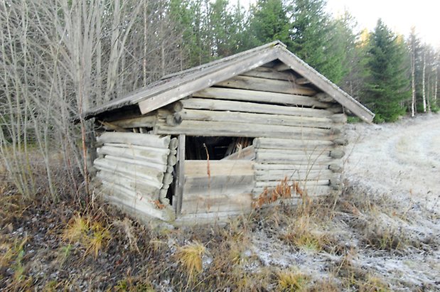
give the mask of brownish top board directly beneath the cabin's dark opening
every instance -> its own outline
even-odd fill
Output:
[[[208,177],[225,175],[253,175],[252,161],[220,160],[220,161],[185,161],[185,176]]]

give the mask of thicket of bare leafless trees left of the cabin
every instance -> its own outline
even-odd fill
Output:
[[[166,4],[1,1],[0,153],[20,193],[77,193],[79,173],[87,192],[91,128],[82,114],[179,67]]]

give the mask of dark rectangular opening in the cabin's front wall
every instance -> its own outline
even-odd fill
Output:
[[[186,136],[186,160],[222,160],[233,153],[252,147],[252,138]],[[252,159],[250,157],[243,159]],[[240,158],[235,158],[240,159]]]

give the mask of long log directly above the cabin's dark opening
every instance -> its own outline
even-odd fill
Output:
[[[186,134],[188,136],[239,136],[239,137],[275,137],[304,139],[334,139],[328,129],[306,128],[299,126],[277,126],[266,124],[228,123],[222,121],[183,121],[178,126],[157,124],[159,134]]]

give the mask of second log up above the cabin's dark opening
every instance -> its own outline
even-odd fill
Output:
[[[326,117],[295,117],[285,114],[254,114],[248,112],[223,112],[203,109],[184,109],[181,112],[181,117],[184,120],[193,121],[225,121],[321,129],[329,129],[332,126],[331,119]]]

